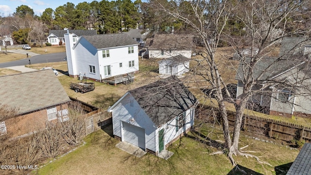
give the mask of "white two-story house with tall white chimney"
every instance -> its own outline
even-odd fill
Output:
[[[138,71],[138,42],[126,34],[81,36],[64,34],[69,76],[101,81]],[[120,83],[120,82],[118,82]]]

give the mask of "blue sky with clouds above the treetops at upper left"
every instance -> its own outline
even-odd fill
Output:
[[[35,15],[40,16],[47,8],[55,10],[57,7],[63,6],[67,2],[78,5],[78,3],[85,1],[92,2],[93,0],[0,0],[0,16],[7,17],[12,15],[16,12],[16,8],[21,5],[27,5],[34,10]]]

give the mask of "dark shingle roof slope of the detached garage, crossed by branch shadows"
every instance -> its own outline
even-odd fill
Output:
[[[197,102],[176,76],[129,91],[156,126],[174,119]]]

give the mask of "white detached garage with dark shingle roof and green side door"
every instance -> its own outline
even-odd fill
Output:
[[[112,112],[113,134],[158,155],[194,124],[197,100],[176,76],[126,92]]]

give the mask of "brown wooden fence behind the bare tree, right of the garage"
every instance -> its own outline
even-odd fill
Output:
[[[228,121],[230,126],[235,123],[235,111],[227,110]],[[217,120],[221,123],[220,115],[217,107],[208,105],[198,105],[196,116],[200,119],[212,122]],[[267,136],[269,138],[291,141],[305,140],[311,142],[311,128],[293,123],[280,122],[263,117],[243,115],[242,129],[251,133]]]

